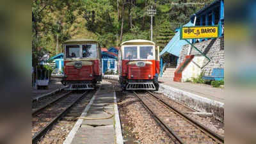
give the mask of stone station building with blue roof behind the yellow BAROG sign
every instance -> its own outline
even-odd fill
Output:
[[[169,76],[174,81],[187,81],[192,77],[204,74],[212,76],[212,71],[224,68],[224,0],[216,0],[191,15],[184,26],[218,26],[218,38],[201,38],[190,40],[200,52],[196,51],[188,42],[180,40],[180,29],[176,29],[175,36],[160,52],[160,76]],[[170,56],[164,61],[163,56]],[[207,60],[207,58],[210,59]],[[168,65],[166,64],[168,63]],[[170,63],[172,65],[170,65]],[[174,66],[174,67],[173,67]],[[172,68],[172,70],[170,70]]]

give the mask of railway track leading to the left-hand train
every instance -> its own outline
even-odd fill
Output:
[[[62,116],[64,116],[79,100],[83,93],[68,92],[57,99],[37,108],[32,113],[32,143],[36,143]]]

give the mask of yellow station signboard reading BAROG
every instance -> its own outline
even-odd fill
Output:
[[[218,26],[189,26],[180,28],[180,39],[217,38]]]

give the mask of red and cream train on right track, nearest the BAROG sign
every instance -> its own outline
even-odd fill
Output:
[[[158,90],[159,47],[148,40],[123,42],[118,52],[119,83],[124,90]]]

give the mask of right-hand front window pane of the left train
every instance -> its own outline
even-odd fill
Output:
[[[82,47],[83,47],[83,58],[97,58],[96,44],[82,45]]]

